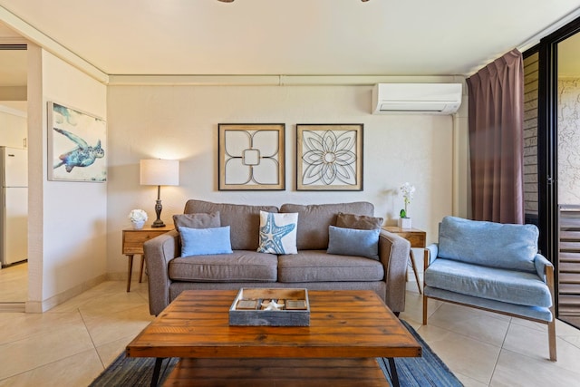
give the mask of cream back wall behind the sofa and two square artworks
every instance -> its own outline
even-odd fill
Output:
[[[179,187],[161,189],[165,223],[188,198],[199,198],[273,205],[368,200],[376,216],[395,224],[402,207],[396,190],[409,181],[417,189],[413,226],[435,240],[440,219],[465,206],[463,198],[454,204],[453,175],[466,169],[452,163],[466,160],[467,125],[456,125],[454,138],[452,116],[372,115],[371,93],[371,86],[109,86],[108,272],[126,277],[121,230],[130,227],[129,211],[143,208],[155,218],[156,188],[139,185],[139,160],[150,158],[181,160]],[[273,122],[285,123],[286,190],[218,191],[218,123]],[[295,191],[296,123],[364,124],[362,192]],[[463,148],[454,152],[454,141]],[[456,184],[465,195],[466,181]]]

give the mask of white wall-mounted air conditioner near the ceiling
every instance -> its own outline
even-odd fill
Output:
[[[461,105],[461,83],[378,83],[372,114],[451,114]]]

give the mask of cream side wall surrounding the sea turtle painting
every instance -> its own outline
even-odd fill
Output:
[[[107,184],[48,181],[47,102],[106,120],[106,86],[29,44],[29,301],[41,312],[106,273]],[[73,144],[72,144],[73,146]]]

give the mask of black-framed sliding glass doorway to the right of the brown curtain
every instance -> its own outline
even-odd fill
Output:
[[[556,267],[556,316],[580,327],[580,19],[524,53],[526,118],[536,120],[540,252]],[[531,80],[530,80],[531,81]],[[536,86],[536,91],[533,91]],[[535,101],[528,101],[528,92]]]

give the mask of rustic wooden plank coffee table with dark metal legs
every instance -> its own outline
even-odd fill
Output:
[[[398,385],[392,358],[421,355],[420,343],[372,291],[309,290],[310,326],[302,327],[230,326],[236,295],[182,292],[129,343],[127,356],[157,358],[151,385],[162,360],[179,357],[170,385],[360,386],[389,385],[375,358],[389,359]]]

